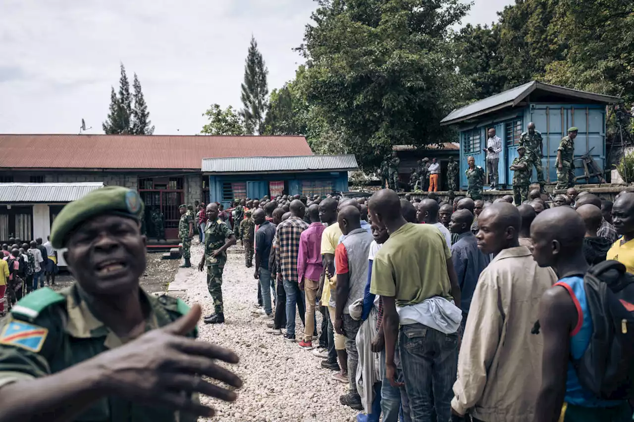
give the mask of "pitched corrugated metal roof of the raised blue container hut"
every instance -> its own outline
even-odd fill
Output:
[[[618,97],[613,97],[603,94],[588,93],[586,91],[579,91],[578,89],[571,89],[567,87],[545,84],[543,82],[537,82],[533,80],[527,82],[524,85],[508,89],[500,94],[495,94],[490,97],[475,101],[470,105],[462,108],[456,108],[453,112],[443,120],[441,125],[448,125],[453,123],[462,122],[470,117],[476,117],[478,115],[494,112],[508,106],[516,106],[517,103],[526,98],[526,96],[535,90],[545,91],[548,93],[560,94],[562,96],[569,96],[574,98],[588,99],[591,101],[598,101],[600,103],[615,103],[619,100]]]

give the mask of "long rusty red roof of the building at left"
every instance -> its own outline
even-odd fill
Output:
[[[191,169],[203,158],[312,155],[303,136],[0,134],[0,167]]]

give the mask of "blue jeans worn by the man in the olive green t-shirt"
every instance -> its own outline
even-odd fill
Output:
[[[458,333],[444,334],[423,324],[401,326],[399,352],[414,421],[451,418],[458,369]]]

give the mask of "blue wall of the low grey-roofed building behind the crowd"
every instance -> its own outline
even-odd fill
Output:
[[[225,207],[230,201],[223,201],[223,183],[247,182],[247,196],[252,199],[269,195],[270,181],[288,181],[288,195],[300,195],[302,181],[332,181],[335,191],[348,190],[347,172],[311,172],[311,173],[279,173],[279,174],[247,174],[209,176],[209,202],[220,202]]]

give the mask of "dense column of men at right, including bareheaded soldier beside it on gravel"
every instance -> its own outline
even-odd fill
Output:
[[[237,234],[210,204],[222,228],[205,230],[200,271],[216,304],[205,322],[224,322],[224,251],[246,237],[254,317],[313,349],[348,384],[340,402],[358,421],[630,420],[627,400],[595,397],[573,359],[592,337],[585,272],[606,259],[634,272],[634,193],[527,197],[265,196],[243,203]]]

